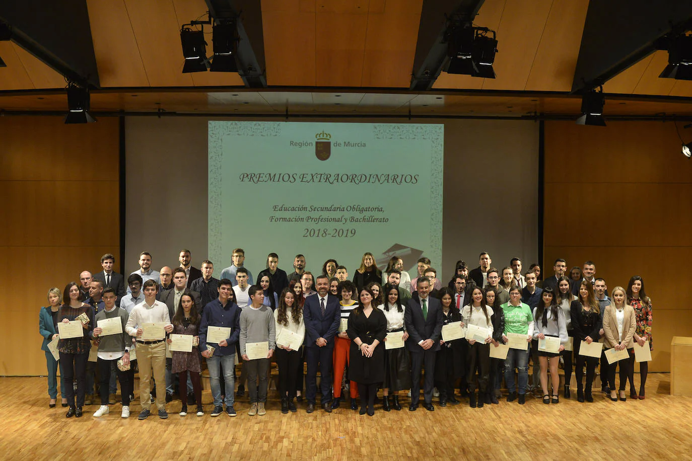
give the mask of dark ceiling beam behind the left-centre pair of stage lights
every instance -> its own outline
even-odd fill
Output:
[[[238,74],[248,88],[266,88],[262,5],[256,0],[205,0],[216,23],[237,19]]]

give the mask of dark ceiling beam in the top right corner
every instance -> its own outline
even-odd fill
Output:
[[[659,39],[689,29],[690,0],[591,1],[581,36],[572,93],[608,82],[661,49]],[[663,70],[663,69],[661,69]]]

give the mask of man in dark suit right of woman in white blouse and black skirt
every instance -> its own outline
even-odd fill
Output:
[[[408,331],[408,350],[411,353],[411,406],[409,411],[416,411],[420,399],[421,366],[426,368],[423,388],[425,408],[435,410],[432,406],[432,388],[435,386],[435,352],[439,350],[442,332],[442,305],[439,300],[428,296],[430,281],[419,277],[416,283],[417,299],[410,299],[406,304],[403,321]]]

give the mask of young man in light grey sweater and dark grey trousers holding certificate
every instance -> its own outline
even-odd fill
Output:
[[[266,403],[267,373],[269,360],[276,347],[274,312],[270,307],[263,305],[264,292],[260,285],[252,285],[248,294],[251,304],[240,313],[240,354],[247,364],[248,391],[250,393],[250,411],[248,415],[264,415]],[[267,343],[266,357],[251,360],[247,355],[246,346],[251,343]],[[260,386],[255,385],[257,376],[260,377]]]

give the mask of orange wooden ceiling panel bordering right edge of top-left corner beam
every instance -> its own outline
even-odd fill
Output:
[[[100,84],[149,86],[124,0],[86,0]]]

